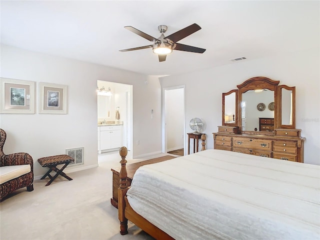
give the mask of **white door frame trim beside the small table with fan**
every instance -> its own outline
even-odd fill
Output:
[[[173,90],[177,88],[183,88],[183,148],[184,148],[184,155],[186,153],[186,143],[185,143],[185,85],[177,85],[177,86],[169,86],[169,87],[162,87],[161,95],[162,95],[162,107],[161,107],[161,152],[167,152],[167,132],[166,132],[166,123],[165,123],[165,92],[167,90]]]

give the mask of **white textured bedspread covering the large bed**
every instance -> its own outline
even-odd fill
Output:
[[[209,149],[139,167],[127,196],[175,239],[315,240],[319,185],[318,165]]]

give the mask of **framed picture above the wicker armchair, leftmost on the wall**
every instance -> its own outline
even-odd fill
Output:
[[[34,113],[34,81],[0,78],[0,113]]]

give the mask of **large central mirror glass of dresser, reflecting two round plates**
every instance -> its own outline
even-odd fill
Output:
[[[273,131],[274,91],[248,90],[242,93],[242,131]]]

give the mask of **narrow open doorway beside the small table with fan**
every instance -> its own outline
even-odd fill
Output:
[[[184,85],[162,91],[162,152],[184,155],[185,150]]]

